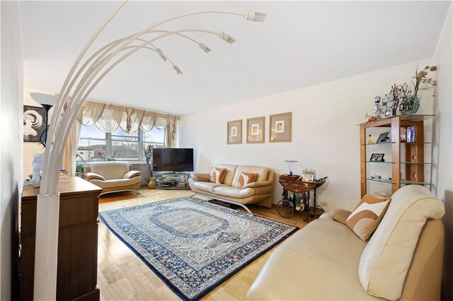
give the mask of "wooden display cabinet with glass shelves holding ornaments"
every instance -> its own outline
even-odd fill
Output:
[[[425,141],[425,120],[431,119],[434,115],[398,115],[379,119],[374,122],[360,124],[360,191],[362,196],[369,194],[367,191],[369,181],[381,182],[391,185],[391,194],[394,194],[401,186],[407,184],[430,185],[431,181],[425,179],[425,166],[430,162],[425,162],[425,148],[430,147],[431,143]],[[401,141],[401,129],[406,131],[408,126],[415,128],[415,140],[411,143]],[[387,128],[389,131],[388,143],[368,143],[367,129]],[[391,158],[385,162],[373,162],[369,158],[369,146],[377,145],[382,148],[391,148]],[[370,164],[385,163],[389,166],[391,179],[382,177],[374,179],[369,175]]]

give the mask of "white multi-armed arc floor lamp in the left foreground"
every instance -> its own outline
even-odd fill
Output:
[[[36,217],[36,247],[35,247],[35,300],[55,300],[57,288],[57,248],[58,248],[58,217],[59,217],[59,193],[58,193],[58,175],[62,164],[62,155],[64,146],[66,146],[67,136],[74,124],[77,115],[81,111],[86,98],[98,83],[112,70],[117,64],[134,54],[140,49],[150,49],[164,59],[169,61],[176,73],[182,73],[173,61],[168,59],[166,54],[153,45],[153,42],[176,35],[184,39],[195,42],[204,52],[211,51],[204,43],[194,40],[188,34],[190,33],[207,33],[218,35],[222,40],[230,44],[236,40],[224,32],[215,33],[203,29],[183,29],[183,30],[161,30],[160,25],[168,23],[178,18],[193,16],[207,13],[221,13],[236,16],[243,16],[246,20],[263,22],[265,13],[236,13],[231,11],[196,11],[193,13],[184,13],[179,16],[161,20],[154,23],[133,35],[128,35],[122,39],[110,42],[101,49],[98,49],[91,57],[88,57],[84,63],[79,66],[84,59],[86,52],[96,40],[110,20],[118,11],[127,3],[122,2],[113,13],[101,24],[79,57],[77,57],[69,74],[64,81],[62,89],[59,92],[57,104],[52,114],[52,122],[47,134],[47,143],[45,148],[45,162],[42,170],[42,181],[40,194],[38,195],[38,208]],[[119,58],[118,58],[119,57]]]

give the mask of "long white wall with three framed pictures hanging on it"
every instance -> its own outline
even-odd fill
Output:
[[[328,210],[352,209],[360,201],[357,124],[365,121],[365,112],[372,112],[374,97],[388,93],[394,83],[410,81],[417,64],[403,64],[184,115],[179,127],[180,146],[195,148],[197,172],[209,172],[214,163],[235,163],[268,166],[278,175],[287,173],[285,160],[298,160],[297,173],[311,167],[317,178],[329,177],[319,189],[319,203],[328,203]],[[420,62],[420,66],[425,64],[430,61]],[[431,113],[430,93],[424,94],[421,102],[423,107],[418,113]],[[292,112],[292,142],[269,143],[269,115],[283,112]],[[246,144],[246,119],[260,116],[266,117],[266,141]],[[243,119],[243,144],[227,145],[226,122],[235,119]],[[281,192],[280,185],[275,184],[274,203],[281,199]]]

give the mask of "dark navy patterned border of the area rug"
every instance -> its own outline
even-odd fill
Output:
[[[184,196],[184,197],[181,197],[181,198],[175,198],[175,199],[184,199],[184,198],[190,198],[190,196]],[[165,200],[161,200],[161,201],[171,201],[173,199],[165,199]],[[200,199],[197,199],[198,201],[202,201]],[[159,203],[161,201],[156,201],[156,202],[153,202],[153,203]],[[121,210],[121,209],[126,209],[126,208],[134,208],[134,207],[139,207],[139,206],[144,206],[144,205],[147,205],[149,203],[141,203],[141,204],[137,204],[137,205],[134,205],[134,206],[129,206],[129,207],[124,207],[124,208],[117,208],[117,209],[113,209],[113,210],[108,210],[108,211],[102,211],[102,212],[99,212],[100,214],[98,215],[99,218],[102,220],[103,224],[110,230],[113,232],[113,234],[121,241],[123,242],[129,249],[131,249],[132,252],[134,252],[134,254],[137,255],[137,257],[139,259],[141,259],[144,264],[146,264],[150,269],[151,271],[153,271],[162,281],[164,281],[164,283],[166,283],[166,285],[168,285],[168,287],[173,290],[174,293],[176,293],[176,295],[178,295],[178,297],[180,297],[181,299],[183,300],[188,300],[188,301],[194,301],[194,300],[199,300],[201,297],[205,296],[207,293],[210,293],[211,290],[214,290],[214,288],[217,288],[220,284],[224,283],[226,280],[228,280],[229,278],[231,278],[231,276],[234,276],[236,273],[238,273],[239,271],[241,271],[244,267],[248,266],[248,264],[251,264],[251,262],[255,261],[256,259],[260,258],[260,256],[263,256],[263,254],[265,254],[266,252],[268,252],[270,249],[273,249],[273,247],[275,247],[277,244],[280,244],[280,242],[282,242],[283,240],[287,239],[289,236],[291,236],[292,234],[294,234],[294,232],[296,232],[297,230],[300,230],[299,227],[295,226],[295,225],[289,225],[287,223],[282,223],[280,221],[276,221],[276,220],[271,220],[270,218],[263,218],[262,216],[258,216],[259,218],[263,218],[265,220],[271,220],[275,223],[281,223],[283,225],[288,225],[288,226],[291,226],[291,227],[294,227],[293,230],[291,230],[290,232],[288,232],[285,236],[282,236],[280,237],[279,240],[277,240],[276,242],[274,242],[273,244],[270,244],[270,247],[268,247],[267,249],[263,250],[262,252],[259,252],[258,254],[256,254],[255,256],[253,256],[253,258],[249,259],[248,261],[246,261],[245,263],[243,263],[241,266],[238,266],[234,271],[232,271],[231,273],[229,273],[229,275],[225,276],[224,278],[220,279],[219,281],[217,281],[217,283],[215,283],[214,285],[211,285],[210,288],[206,288],[205,290],[203,290],[202,292],[198,293],[198,295],[195,295],[193,298],[188,298],[181,290],[179,290],[176,285],[173,285],[173,283],[171,283],[171,281],[169,281],[164,275],[162,275],[159,270],[157,270],[156,268],[154,268],[154,266],[152,266],[148,261],[147,259],[144,258],[144,256],[142,256],[142,254],[139,254],[139,252],[137,252],[137,250],[132,247],[127,241],[125,241],[115,230],[113,230],[112,227],[110,227],[110,225],[105,221],[105,219],[103,218],[103,216],[101,216],[102,213],[108,213],[110,211],[117,211],[117,210]],[[236,209],[231,209],[231,208],[227,208],[227,207],[224,207],[224,206],[221,206],[219,204],[216,204],[216,203],[210,203],[210,205],[213,205],[213,206],[219,206],[220,208],[224,208],[224,209],[227,209],[227,210],[231,210],[231,211],[236,211]],[[242,212],[242,211],[241,211]],[[247,213],[245,213],[247,214]]]

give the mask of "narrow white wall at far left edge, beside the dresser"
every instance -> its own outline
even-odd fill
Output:
[[[10,300],[12,257],[17,256],[17,249],[13,248],[18,231],[15,212],[22,192],[23,57],[18,4],[1,1],[0,7],[0,300]]]

